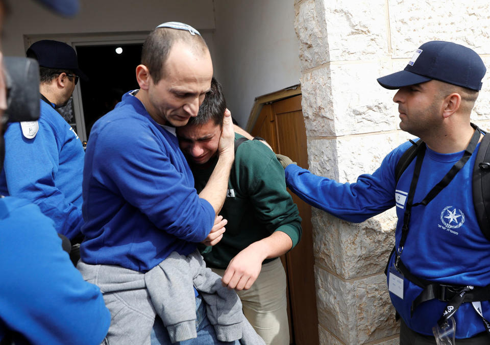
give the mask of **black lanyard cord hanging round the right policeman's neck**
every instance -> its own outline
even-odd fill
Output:
[[[426,206],[435,196],[443,190],[456,176],[459,170],[464,166],[464,164],[470,159],[473,151],[475,151],[476,146],[478,145],[478,141],[480,140],[480,129],[472,124],[472,127],[475,128],[475,133],[471,137],[470,143],[467,148],[464,150],[463,156],[457,161],[448,173],[443,177],[442,180],[439,181],[425,196],[425,198],[420,203],[413,204],[413,196],[415,194],[415,188],[417,187],[417,182],[419,181],[420,171],[422,169],[422,161],[424,160],[424,155],[426,151],[425,142],[421,144],[419,152],[417,154],[417,160],[415,161],[415,169],[413,171],[412,181],[410,183],[410,189],[407,195],[407,203],[405,206],[405,213],[403,216],[403,227],[402,227],[402,238],[400,239],[400,244],[398,245],[397,256],[396,256],[396,264],[398,266],[398,262],[400,260],[400,255],[403,252],[403,247],[405,245],[405,241],[408,235],[408,223],[410,221],[411,209],[413,206],[424,205]]]

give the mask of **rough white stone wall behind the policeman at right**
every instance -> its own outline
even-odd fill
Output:
[[[310,170],[355,182],[411,136],[399,130],[393,90],[376,78],[405,67],[429,40],[473,48],[489,72],[472,114],[490,129],[490,3],[487,0],[296,0],[303,113]],[[352,224],[314,209],[321,344],[398,344],[384,276],[396,215]]]

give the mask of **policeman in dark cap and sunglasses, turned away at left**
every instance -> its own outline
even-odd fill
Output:
[[[39,62],[40,117],[11,124],[0,174],[0,193],[28,199],[53,219],[59,234],[81,237],[84,150],[77,133],[56,111],[67,104],[84,77],[75,50],[66,43],[41,40],[27,56]]]

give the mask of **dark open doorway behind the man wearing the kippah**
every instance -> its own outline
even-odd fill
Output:
[[[111,111],[121,96],[138,88],[135,78],[143,44],[78,46],[80,69],[88,81],[80,81],[87,139],[94,122]],[[116,48],[122,52],[116,53]]]

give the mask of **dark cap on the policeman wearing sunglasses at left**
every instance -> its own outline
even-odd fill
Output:
[[[78,68],[77,53],[74,48],[64,42],[43,39],[31,44],[26,54],[35,57],[39,66],[69,69],[81,79],[88,79],[85,73]]]

